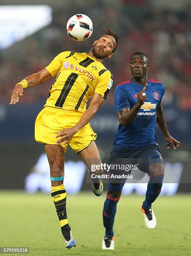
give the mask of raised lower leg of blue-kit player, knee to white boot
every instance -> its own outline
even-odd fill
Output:
[[[152,203],[159,196],[163,185],[164,165],[161,163],[153,163],[149,165],[148,175],[150,180],[147,186],[145,201],[141,206],[144,215],[145,225],[152,229],[156,227],[156,218],[153,212]]]

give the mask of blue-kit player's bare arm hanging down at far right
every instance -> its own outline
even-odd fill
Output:
[[[164,134],[164,138],[167,142],[166,143],[167,149],[173,148],[175,150],[177,147],[179,147],[181,143],[177,141],[175,138],[173,138],[168,131],[166,121],[165,121],[164,110],[161,102],[158,104],[158,108],[157,108],[157,123]]]

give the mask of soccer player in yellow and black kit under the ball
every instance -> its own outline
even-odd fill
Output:
[[[32,74],[15,85],[10,105],[23,95],[23,88],[33,87],[56,76],[51,86],[45,108],[36,118],[35,139],[45,144],[50,165],[51,196],[60,220],[66,248],[76,246],[66,214],[64,188],[64,154],[67,145],[80,154],[89,170],[92,164],[101,164],[95,144],[97,134],[89,121],[99,110],[112,87],[112,75],[102,61],[111,58],[118,44],[118,36],[102,27],[104,34],[93,43],[88,53],[64,51],[40,72]],[[92,97],[89,108],[86,103]],[[77,171],[77,170],[76,170]],[[100,171],[96,174],[101,174]],[[101,179],[92,183],[94,194],[103,191]]]

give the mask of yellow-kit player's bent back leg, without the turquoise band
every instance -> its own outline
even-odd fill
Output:
[[[97,149],[95,141],[92,141],[87,148],[84,148],[79,152],[81,158],[84,163],[87,165],[89,169],[89,175],[92,179],[92,189],[96,196],[102,195],[103,192],[103,183],[99,178],[92,178],[92,174],[101,175],[104,173],[103,169],[96,169],[96,165],[101,166],[102,160],[99,155],[99,151]],[[92,166],[94,167],[94,171],[92,171]]]

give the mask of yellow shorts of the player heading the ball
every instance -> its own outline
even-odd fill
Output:
[[[40,143],[56,144],[58,133],[64,128],[71,128],[79,122],[82,113],[77,110],[63,110],[58,108],[45,107],[38,114],[35,122],[35,140]],[[94,133],[88,123],[82,127],[69,140],[68,144],[76,152],[87,148],[91,141],[96,140],[97,134]],[[61,145],[60,145],[61,146]],[[61,146],[66,152],[67,144]]]

